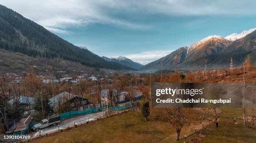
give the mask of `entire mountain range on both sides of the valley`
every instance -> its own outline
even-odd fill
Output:
[[[176,51],[145,66],[120,56],[99,57],[87,47],[77,47],[54,35],[41,25],[17,12],[0,5],[0,70],[24,70],[29,65],[41,67],[94,67],[118,70],[196,70],[227,68],[230,59],[239,67],[246,57],[256,61],[256,28],[233,33],[227,37],[206,37],[190,46]],[[6,59],[4,59],[6,58]],[[74,66],[75,65],[75,66]],[[5,70],[6,71],[6,70]]]

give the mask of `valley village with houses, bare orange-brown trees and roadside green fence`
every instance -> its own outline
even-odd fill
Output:
[[[245,65],[245,70],[249,77],[255,74],[255,67],[250,64]],[[140,112],[140,101],[151,101],[151,85],[155,82],[242,81],[236,75],[242,74],[243,68],[233,68],[231,62],[229,69],[205,68],[187,73],[80,72],[41,74],[34,73],[31,67],[20,74],[4,74],[0,79],[4,109],[0,131],[42,136],[127,110]],[[246,80],[255,82],[255,78]]]

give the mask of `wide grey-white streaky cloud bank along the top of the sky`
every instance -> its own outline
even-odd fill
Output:
[[[1,4],[38,22],[49,30],[93,23],[115,25],[133,30],[148,30],[152,26],[131,17],[139,14],[165,15],[250,15],[255,14],[255,1],[243,0],[1,0]],[[124,20],[125,19],[125,20]],[[60,32],[60,31],[59,31]]]

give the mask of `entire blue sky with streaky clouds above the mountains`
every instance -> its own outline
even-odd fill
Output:
[[[0,0],[77,46],[147,64],[210,35],[256,27],[255,0]]]

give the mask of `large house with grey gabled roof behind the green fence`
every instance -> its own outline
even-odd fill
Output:
[[[82,95],[69,94],[67,92],[62,92],[49,100],[51,106],[55,108],[55,111],[60,111],[64,106],[69,106],[72,110],[85,110],[90,108],[89,99],[84,98]]]

